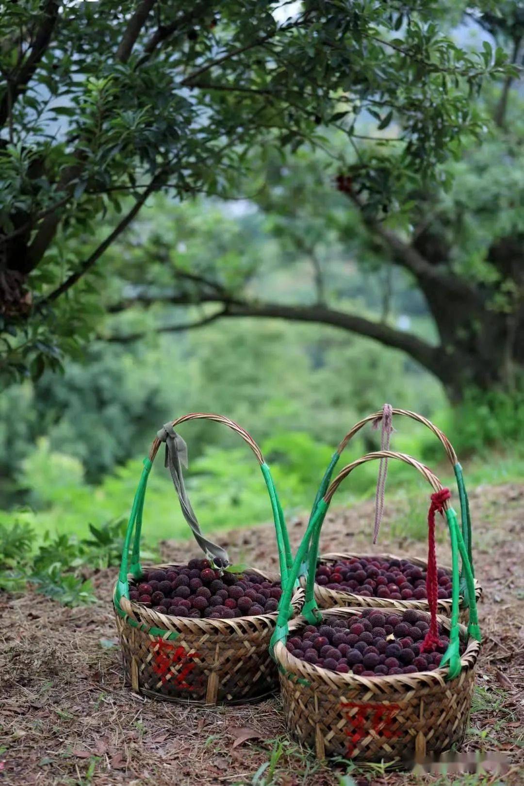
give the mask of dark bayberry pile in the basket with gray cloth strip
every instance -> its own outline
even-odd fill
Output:
[[[130,585],[130,600],[175,617],[233,619],[277,611],[278,582],[258,573],[230,573],[208,560],[189,560],[183,567],[152,568]]]

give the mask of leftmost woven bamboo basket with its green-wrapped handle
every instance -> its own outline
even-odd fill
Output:
[[[285,578],[291,566],[288,533],[269,467],[258,445],[238,424],[218,415],[191,413],[173,421],[173,426],[196,418],[207,418],[229,426],[255,454],[269,491],[280,571]],[[261,700],[278,689],[277,667],[269,656],[269,640],[275,630],[277,612],[235,619],[192,619],[160,614],[129,600],[130,579],[140,578],[143,573],[140,564],[142,509],[148,473],[160,444],[159,439],[154,440],[144,462],[145,469],[135,494],[119,580],[113,595],[126,683],[135,692],[168,701],[216,704]],[[134,548],[128,573],[133,531]],[[250,571],[270,581],[279,578],[255,568],[247,568],[244,572]],[[299,611],[302,600],[303,592],[299,589],[289,602],[290,614]]]

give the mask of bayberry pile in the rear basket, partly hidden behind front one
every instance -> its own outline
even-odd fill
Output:
[[[315,581],[327,589],[393,601],[422,601],[427,598],[426,568],[409,560],[384,556],[353,557],[319,564]],[[438,568],[438,597],[451,597],[451,575]]]

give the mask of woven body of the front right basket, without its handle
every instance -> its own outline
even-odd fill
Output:
[[[330,616],[357,615],[361,608],[334,608]],[[439,617],[449,630],[451,621]],[[290,635],[305,626],[299,617]],[[460,674],[446,681],[446,670],[394,677],[357,677],[306,663],[280,641],[275,656],[288,729],[313,748],[318,758],[342,756],[361,762],[401,762],[460,747],[475,687],[480,645],[467,638]]]

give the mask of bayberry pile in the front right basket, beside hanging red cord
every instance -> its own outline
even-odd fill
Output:
[[[420,652],[428,627],[428,617],[422,612],[410,609],[400,615],[366,608],[358,616],[330,617],[318,627],[307,625],[288,639],[286,647],[295,658],[340,674],[415,674],[438,668],[449,645],[438,626],[438,648]]]

